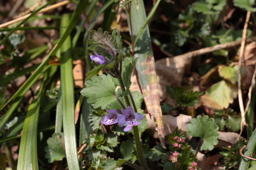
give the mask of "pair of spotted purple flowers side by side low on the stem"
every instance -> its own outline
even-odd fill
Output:
[[[105,125],[118,123],[119,127],[123,127],[125,123],[125,132],[131,130],[132,126],[137,126],[140,124],[137,119],[142,120],[144,118],[144,116],[140,113],[133,113],[133,109],[131,106],[126,107],[125,110],[121,110],[122,114],[120,114],[119,111],[117,111],[116,109],[110,109],[107,111],[109,112],[109,114],[103,116],[101,123]]]

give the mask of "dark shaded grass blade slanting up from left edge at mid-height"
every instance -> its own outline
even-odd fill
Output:
[[[10,83],[10,81],[14,80],[15,78],[18,78],[20,76],[23,76],[25,74],[29,74],[31,71],[36,70],[36,68],[39,66],[39,64],[32,65],[31,67],[28,67],[26,69],[22,70],[14,70],[12,73],[0,78],[0,86]]]

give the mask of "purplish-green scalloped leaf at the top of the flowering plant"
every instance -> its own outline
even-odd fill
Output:
[[[108,31],[103,32],[102,28],[98,29],[98,32],[92,30],[90,32],[91,39],[87,40],[87,43],[91,46],[89,50],[93,50],[104,57],[108,57],[111,61],[116,60],[117,55],[119,55],[117,42],[113,35],[109,35]]]

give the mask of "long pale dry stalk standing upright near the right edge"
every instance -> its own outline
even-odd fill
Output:
[[[240,134],[238,137],[241,136],[243,125],[246,124],[245,121],[245,112],[244,112],[244,103],[243,103],[243,95],[241,90],[241,71],[242,71],[242,58],[244,57],[244,47],[245,47],[245,40],[246,40],[246,34],[247,34],[247,26],[248,22],[251,16],[251,11],[247,11],[245,23],[244,23],[244,30],[242,35],[242,42],[241,42],[241,48],[240,48],[240,55],[239,55],[239,72],[238,72],[238,101],[239,101],[239,107],[241,112],[241,124],[240,124]]]

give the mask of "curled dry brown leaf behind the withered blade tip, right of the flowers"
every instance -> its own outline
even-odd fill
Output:
[[[146,119],[148,120],[148,128],[147,132],[148,134],[152,135],[154,138],[158,138],[159,135],[156,131],[156,124],[154,123],[154,120],[150,119],[149,114],[146,114]],[[169,136],[172,131],[178,126],[179,129],[181,129],[186,137],[186,141],[190,141],[192,136],[187,135],[186,129],[187,124],[192,119],[191,116],[180,114],[179,116],[172,116],[172,115],[163,115],[163,121],[164,121],[164,136]]]

